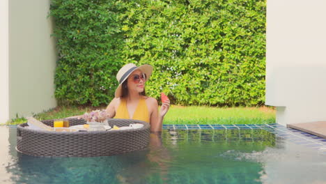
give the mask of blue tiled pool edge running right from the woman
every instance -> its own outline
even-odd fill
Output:
[[[266,130],[281,139],[313,148],[326,155],[326,139],[307,132],[286,128],[278,123],[246,125],[163,125],[164,130]]]

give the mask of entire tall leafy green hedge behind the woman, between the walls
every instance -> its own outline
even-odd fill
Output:
[[[118,68],[149,63],[146,87],[180,105],[263,105],[265,1],[52,1],[56,98],[113,98]]]

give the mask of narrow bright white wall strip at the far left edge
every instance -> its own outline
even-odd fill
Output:
[[[0,1],[0,123],[9,118],[8,0]]]

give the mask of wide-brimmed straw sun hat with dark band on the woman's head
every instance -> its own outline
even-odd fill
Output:
[[[134,72],[134,70],[141,70],[141,72],[146,74],[146,81],[149,79],[150,75],[152,75],[153,72],[153,66],[150,66],[148,64],[142,65],[142,66],[136,66],[134,63],[128,63],[125,66],[123,66],[118,73],[116,74],[116,79],[119,82],[119,86],[116,89],[116,93],[114,96],[116,98],[121,97],[122,95],[122,84],[125,82],[125,80],[129,77],[129,75]]]

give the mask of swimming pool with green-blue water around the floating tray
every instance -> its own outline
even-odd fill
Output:
[[[164,125],[143,151],[97,158],[17,153],[0,126],[0,183],[325,183],[326,140],[282,125]]]

